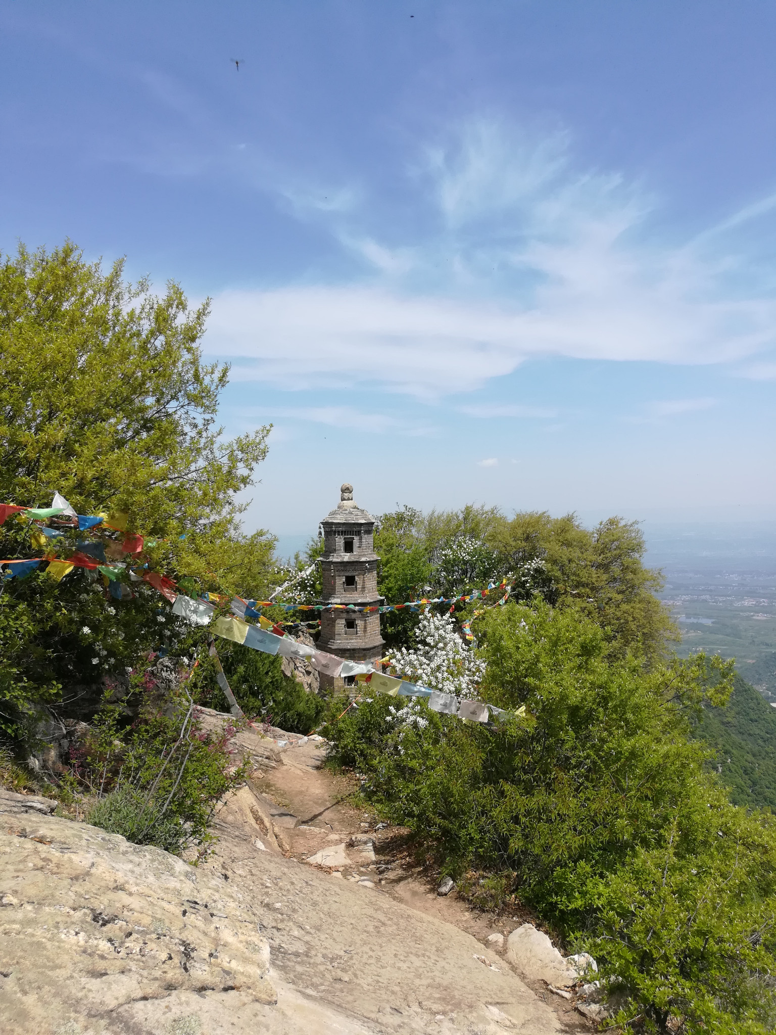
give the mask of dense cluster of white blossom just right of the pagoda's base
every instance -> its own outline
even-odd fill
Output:
[[[458,698],[476,697],[485,662],[474,655],[455,630],[451,615],[425,611],[416,633],[415,650],[391,655],[391,667],[402,678]]]

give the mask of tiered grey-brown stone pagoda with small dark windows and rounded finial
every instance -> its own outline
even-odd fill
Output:
[[[372,533],[375,519],[353,501],[353,485],[347,482],[339,504],[321,522],[324,554],[321,558],[323,603],[352,603],[371,608],[383,603],[378,596],[378,561]],[[347,661],[377,661],[385,641],[380,634],[380,614],[361,611],[322,611],[318,647]],[[340,690],[353,686],[354,677],[321,673],[321,689]]]

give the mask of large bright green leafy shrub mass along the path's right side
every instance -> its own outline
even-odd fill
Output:
[[[732,667],[613,658],[574,610],[510,604],[480,623],[490,731],[417,701],[332,723],[335,758],[452,874],[479,868],[594,952],[648,1030],[764,1031],[774,1009],[776,825],[726,798],[688,714]],[[711,672],[710,672],[711,669]],[[715,671],[716,670],[716,671]]]

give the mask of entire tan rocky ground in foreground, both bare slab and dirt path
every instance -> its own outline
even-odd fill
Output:
[[[198,867],[0,792],[0,1032],[592,1030],[584,964],[437,894],[400,832],[348,803],[320,738],[249,728],[235,744],[253,775]]]

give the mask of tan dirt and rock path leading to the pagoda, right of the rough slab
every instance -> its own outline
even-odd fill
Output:
[[[203,714],[206,727],[221,720]],[[322,768],[323,741],[269,732],[237,738],[255,773],[219,809],[205,866],[266,910],[280,987],[333,1011],[332,1031],[591,1031],[486,943],[518,920],[493,921],[454,891],[438,896],[402,852],[401,832],[355,809],[353,783]]]

